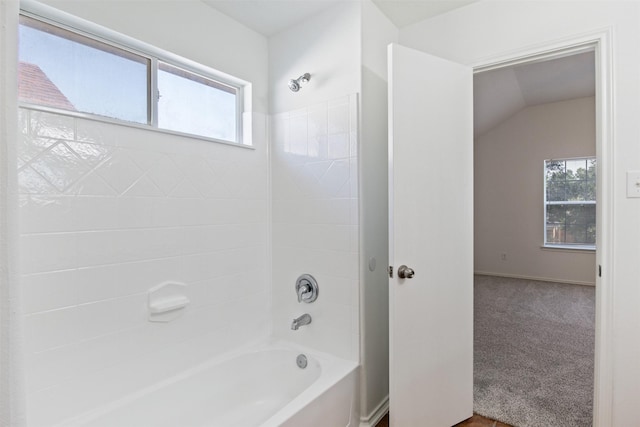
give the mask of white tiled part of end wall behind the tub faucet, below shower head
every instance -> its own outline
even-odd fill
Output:
[[[358,107],[345,96],[272,117],[273,329],[359,360]],[[298,303],[296,278],[313,275],[318,299]],[[311,325],[291,330],[303,313]]]

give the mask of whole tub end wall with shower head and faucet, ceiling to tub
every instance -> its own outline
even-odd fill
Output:
[[[275,337],[359,360],[360,10],[334,6],[269,40]],[[287,80],[308,72],[299,92]],[[298,303],[296,278],[320,294]],[[313,322],[291,330],[293,318]]]

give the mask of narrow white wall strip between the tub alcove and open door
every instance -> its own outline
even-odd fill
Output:
[[[389,395],[387,45],[397,42],[398,36],[398,29],[376,5],[362,3],[360,408],[365,426],[376,424]]]

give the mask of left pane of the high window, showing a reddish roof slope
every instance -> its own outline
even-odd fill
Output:
[[[149,122],[148,58],[26,16],[19,58],[22,102]]]

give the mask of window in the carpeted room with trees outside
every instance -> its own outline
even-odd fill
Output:
[[[596,159],[546,160],[545,247],[595,249]]]

